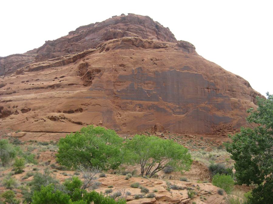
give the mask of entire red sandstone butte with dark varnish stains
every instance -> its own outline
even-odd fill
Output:
[[[232,60],[232,59],[231,59]],[[113,16],[0,57],[0,129],[54,140],[82,126],[227,138],[261,96],[148,16]],[[159,128],[160,129],[160,128]]]

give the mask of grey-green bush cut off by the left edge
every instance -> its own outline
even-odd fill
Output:
[[[9,143],[6,139],[0,140],[0,159],[5,167],[17,154],[18,148]]]

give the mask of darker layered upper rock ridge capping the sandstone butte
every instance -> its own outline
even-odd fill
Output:
[[[15,70],[33,62],[81,52],[95,48],[107,40],[121,37],[176,42],[174,34],[168,28],[164,28],[148,16],[134,14],[113,16],[103,22],[80,26],[75,31],[70,31],[69,35],[57,40],[45,41],[45,44],[38,49],[24,54],[0,57],[0,75],[10,75]]]

